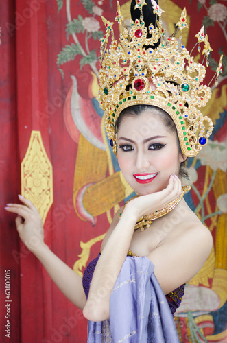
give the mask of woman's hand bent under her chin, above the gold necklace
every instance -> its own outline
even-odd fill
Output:
[[[164,209],[169,202],[176,199],[182,193],[181,182],[178,176],[170,176],[169,183],[163,191],[159,191],[146,196],[139,196],[126,204],[124,213],[134,213],[136,219],[142,215],[149,215],[158,210]]]

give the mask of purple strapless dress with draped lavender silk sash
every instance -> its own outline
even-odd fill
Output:
[[[88,264],[83,287],[88,297],[100,254]],[[178,343],[173,320],[184,285],[167,296],[147,257],[126,257],[110,296],[110,318],[88,322],[87,343]]]

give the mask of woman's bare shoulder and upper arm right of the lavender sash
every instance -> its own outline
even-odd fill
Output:
[[[154,274],[165,294],[190,281],[211,252],[210,231],[199,220],[191,218],[178,224],[147,256],[154,263]]]

